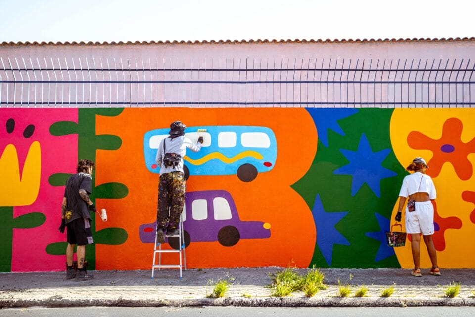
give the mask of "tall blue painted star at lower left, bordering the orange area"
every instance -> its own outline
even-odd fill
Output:
[[[323,208],[320,195],[315,197],[315,203],[312,208],[313,221],[317,229],[317,245],[322,251],[325,261],[330,266],[332,263],[333,245],[350,245],[350,242],[335,229],[335,225],[348,214],[345,212],[326,212]]]

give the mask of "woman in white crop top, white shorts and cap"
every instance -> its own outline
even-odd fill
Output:
[[[399,192],[399,207],[395,217],[396,221],[401,221],[402,209],[409,198],[405,212],[405,224],[406,232],[411,235],[412,257],[414,260],[414,269],[411,274],[414,276],[422,276],[420,267],[421,233],[432,262],[429,273],[440,275],[435,245],[432,240],[434,234],[434,207],[431,201],[435,200],[437,195],[432,178],[426,175],[427,168],[426,161],[421,157],[413,159],[412,163],[406,168],[407,171],[414,171],[414,173],[407,175],[402,181]]]

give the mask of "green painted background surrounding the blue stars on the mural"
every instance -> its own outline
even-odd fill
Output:
[[[350,245],[333,245],[331,267],[400,267],[395,255],[375,262],[381,242],[365,235],[367,232],[381,231],[375,212],[390,218],[402,179],[407,175],[392,151],[389,134],[392,111],[360,109],[358,113],[339,120],[345,135],[328,131],[328,148],[318,142],[317,153],[310,169],[291,186],[304,198],[310,211],[315,196],[319,194],[326,212],[348,212],[335,225],[335,229]],[[340,149],[356,151],[363,133],[373,152],[391,149],[381,166],[394,171],[397,176],[380,180],[380,197],[377,197],[366,183],[352,196],[352,176],[333,174],[336,169],[349,163]],[[318,245],[315,245],[309,267],[313,265],[329,267]]]

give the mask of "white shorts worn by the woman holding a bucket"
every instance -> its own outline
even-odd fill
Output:
[[[416,202],[416,210],[409,212],[406,207],[406,232],[434,234],[434,206],[431,201]]]

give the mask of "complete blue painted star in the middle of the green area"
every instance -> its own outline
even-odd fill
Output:
[[[351,195],[355,196],[361,186],[366,183],[377,197],[380,197],[380,180],[397,176],[395,172],[381,166],[391,149],[373,152],[365,134],[361,135],[357,151],[340,149],[341,153],[350,161],[348,165],[338,168],[336,175],[351,175]]]

